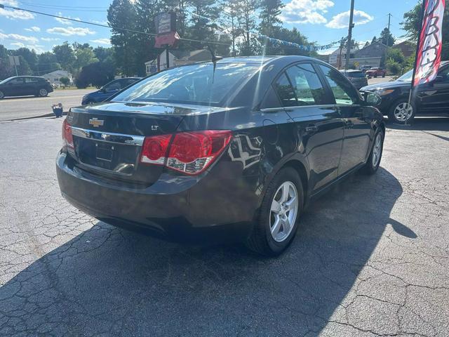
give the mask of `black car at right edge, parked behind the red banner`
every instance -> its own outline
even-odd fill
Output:
[[[408,104],[413,70],[406,72],[396,81],[373,84],[361,88],[362,93],[377,93],[382,97],[379,109],[391,121],[405,124],[416,114],[449,113],[449,61],[441,62],[434,81],[415,88],[415,95]]]

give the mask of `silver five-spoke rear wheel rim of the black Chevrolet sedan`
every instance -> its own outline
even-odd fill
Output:
[[[298,209],[298,195],[294,183],[286,181],[274,194],[269,215],[269,227],[276,242],[288,238],[295,225]]]

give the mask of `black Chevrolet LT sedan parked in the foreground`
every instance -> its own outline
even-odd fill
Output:
[[[276,255],[312,198],[377,171],[378,100],[301,56],[175,67],[69,111],[60,190],[112,225]]]

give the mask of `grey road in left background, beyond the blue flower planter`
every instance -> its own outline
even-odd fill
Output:
[[[48,97],[5,98],[0,100],[0,121],[42,116],[51,113],[51,105],[62,103],[64,110],[81,105],[81,98],[93,89],[57,90]]]

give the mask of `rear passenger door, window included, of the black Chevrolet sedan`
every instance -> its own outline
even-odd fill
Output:
[[[290,66],[274,87],[295,123],[310,168],[311,192],[337,178],[343,121],[311,63]]]

